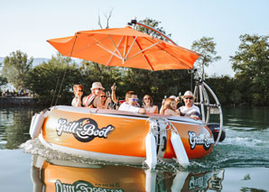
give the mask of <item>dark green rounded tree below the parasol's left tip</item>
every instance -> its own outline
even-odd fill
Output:
[[[72,87],[81,83],[79,67],[70,58],[60,56],[60,53],[48,63],[43,62],[29,71],[26,86],[36,94],[39,102],[44,105],[70,105]],[[55,97],[54,97],[55,96]]]

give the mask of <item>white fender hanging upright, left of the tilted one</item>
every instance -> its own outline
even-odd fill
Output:
[[[145,137],[146,164],[150,169],[157,165],[156,142],[153,133],[148,133]]]

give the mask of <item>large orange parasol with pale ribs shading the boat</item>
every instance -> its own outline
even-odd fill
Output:
[[[192,69],[199,54],[131,27],[76,32],[48,40],[63,56],[106,66],[166,70]]]

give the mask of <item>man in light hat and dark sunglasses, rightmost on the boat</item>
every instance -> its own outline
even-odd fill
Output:
[[[191,91],[186,91],[182,96],[185,105],[180,107],[181,116],[187,116],[199,120],[199,107],[193,105],[194,96]]]

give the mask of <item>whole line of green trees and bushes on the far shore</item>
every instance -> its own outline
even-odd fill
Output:
[[[160,22],[145,19],[141,23],[158,27]],[[143,28],[136,29],[147,32]],[[147,32],[153,35],[153,32]],[[171,34],[168,34],[171,36]],[[158,37],[155,35],[155,37]],[[235,77],[208,77],[204,67],[220,59],[213,38],[203,37],[194,41],[191,50],[201,54],[194,63],[200,76],[218,96],[221,105],[269,106],[269,36],[244,34],[234,56],[230,56]],[[116,83],[116,96],[125,98],[125,92],[134,90],[140,99],[144,95],[153,97],[155,104],[161,104],[164,96],[179,96],[187,90],[193,91],[195,80],[190,70],[149,71],[144,69],[122,69],[106,67],[88,60],[63,57],[58,53],[48,61],[32,66],[33,58],[16,50],[0,62],[0,96],[7,83],[17,91],[27,89],[34,94],[37,104],[70,105],[73,98],[72,87],[81,84],[84,96],[90,94],[93,82],[99,81],[105,91]],[[213,100],[210,99],[209,100]],[[141,100],[140,100],[141,101]],[[54,102],[54,103],[53,103]]]

